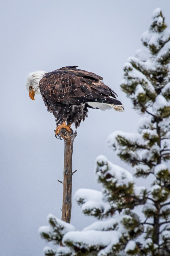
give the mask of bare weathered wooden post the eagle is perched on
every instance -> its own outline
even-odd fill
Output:
[[[65,142],[64,151],[64,170],[63,170],[63,207],[61,220],[70,223],[71,221],[71,194],[72,194],[72,156],[73,142],[77,132],[72,135],[66,130],[61,129],[59,135],[63,137]]]

